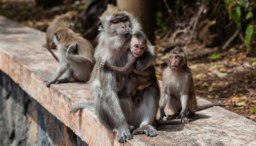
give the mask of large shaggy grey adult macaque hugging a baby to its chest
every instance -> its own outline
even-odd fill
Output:
[[[156,136],[157,132],[152,125],[159,107],[158,84],[145,88],[140,105],[136,105],[131,98],[119,99],[117,95],[129,81],[129,76],[100,68],[102,61],[107,61],[112,66],[126,64],[131,36],[141,31],[140,23],[132,14],[114,5],[108,5],[99,19],[100,33],[94,54],[96,63],[89,81],[97,116],[104,126],[117,133],[118,142],[132,139],[130,125],[137,128],[133,134]],[[155,55],[155,48],[148,41],[145,52],[134,63],[135,70],[140,72],[153,66]]]

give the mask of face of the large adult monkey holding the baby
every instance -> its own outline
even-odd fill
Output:
[[[113,35],[130,38],[131,27],[130,18],[128,15],[115,16],[109,20],[109,23]]]

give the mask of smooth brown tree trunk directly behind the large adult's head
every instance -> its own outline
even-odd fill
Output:
[[[132,13],[142,23],[143,32],[152,44],[155,44],[154,37],[154,3],[153,0],[117,0],[116,4],[122,10]]]

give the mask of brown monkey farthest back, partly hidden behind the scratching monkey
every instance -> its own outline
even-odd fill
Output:
[[[57,16],[53,22],[49,25],[46,30],[46,42],[47,47],[50,49],[55,49],[57,45],[54,43],[54,32],[58,27],[67,27],[74,29],[75,25],[78,23],[78,11],[69,11],[66,14]]]

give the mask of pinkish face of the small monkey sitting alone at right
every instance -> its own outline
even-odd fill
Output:
[[[180,54],[169,54],[169,65],[171,70],[178,71],[184,65],[184,58]]]

